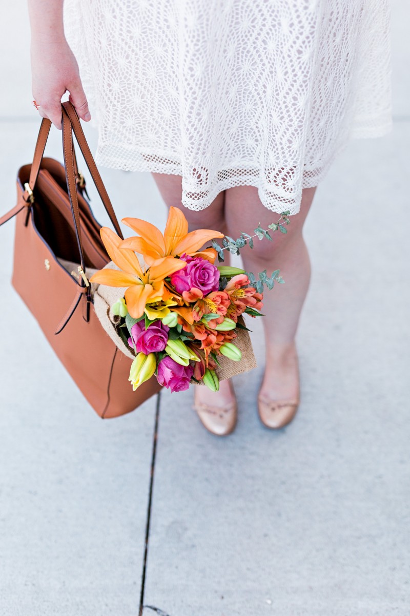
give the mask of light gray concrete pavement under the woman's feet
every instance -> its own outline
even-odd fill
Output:
[[[410,7],[392,7],[393,132],[349,145],[306,225],[298,416],[280,432],[258,421],[260,323],[234,434],[208,434],[191,392],[163,392],[143,616],[410,614]],[[22,0],[6,17],[1,211],[38,130]],[[60,134],[50,141],[61,158]],[[119,217],[164,224],[149,174],[101,172]],[[0,615],[137,616],[157,400],[95,415],[10,286],[12,227],[0,229]]]

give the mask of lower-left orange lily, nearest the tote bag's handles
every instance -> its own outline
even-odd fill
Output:
[[[146,304],[159,302],[164,296],[169,296],[164,278],[183,269],[186,262],[181,259],[167,259],[143,269],[132,250],[121,248],[122,240],[114,231],[103,227],[100,233],[111,261],[120,270],[104,268],[93,274],[90,281],[101,285],[127,287],[125,301],[128,312],[133,318],[139,318],[144,314]]]

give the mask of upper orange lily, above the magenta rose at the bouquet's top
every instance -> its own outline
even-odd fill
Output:
[[[207,241],[223,238],[223,233],[211,229],[197,229],[188,233],[188,222],[183,212],[178,208],[170,208],[164,235],[151,222],[140,218],[124,218],[125,225],[133,229],[141,237],[130,237],[124,240],[121,248],[128,248],[144,256],[148,265],[157,264],[159,260],[189,254],[200,256],[213,263],[216,259],[214,248],[200,250]]]

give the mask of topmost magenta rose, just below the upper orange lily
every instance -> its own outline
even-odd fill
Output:
[[[219,270],[202,257],[190,257],[187,254],[181,255],[181,259],[186,261],[184,269],[171,275],[171,285],[178,293],[190,291],[192,288],[199,289],[204,295],[219,289]]]

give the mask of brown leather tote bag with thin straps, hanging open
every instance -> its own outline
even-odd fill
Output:
[[[160,386],[152,377],[132,391],[132,360],[117,349],[95,315],[87,274],[104,267],[109,257],[101,225],[84,198],[73,131],[112,225],[122,233],[77,113],[69,102],[61,109],[64,166],[43,158],[51,126],[43,119],[33,163],[18,170],[17,205],[0,218],[0,225],[16,217],[15,290],[85,398],[101,418],[112,418],[134,410]]]

